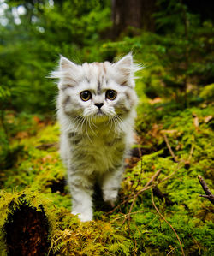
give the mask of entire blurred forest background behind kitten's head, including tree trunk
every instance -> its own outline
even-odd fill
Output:
[[[59,54],[83,63],[113,61],[133,51],[137,61],[162,76],[163,94],[165,86],[185,90],[187,80],[205,86],[214,76],[213,5],[199,0],[0,0],[1,110],[54,110],[56,86],[46,77]],[[144,82],[149,97],[162,90],[158,86],[157,92],[149,78]]]

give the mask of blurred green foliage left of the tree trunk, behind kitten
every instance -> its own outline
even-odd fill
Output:
[[[23,3],[26,14],[20,15],[20,24],[14,23],[11,12],[21,3],[7,3],[5,16],[9,24],[0,25],[0,100],[4,97],[8,109],[28,113],[53,111],[57,88],[46,77],[56,67],[59,54],[77,62],[88,59],[88,47],[110,27],[109,3]]]

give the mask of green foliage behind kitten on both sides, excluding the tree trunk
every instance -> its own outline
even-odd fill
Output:
[[[0,25],[0,99],[4,95],[9,109],[54,110],[56,86],[45,77],[56,67],[59,54],[82,63],[112,60],[133,51],[136,60],[149,70],[143,75],[146,95],[173,94],[183,105],[189,103],[192,88],[197,94],[198,86],[213,80],[212,21],[201,21],[179,1],[158,1],[154,14],[158,33],[140,32],[133,38],[124,34],[116,42],[102,39],[110,35],[108,1],[22,3],[26,14],[20,15],[20,24],[14,23],[11,13],[21,3],[6,3],[9,23]]]

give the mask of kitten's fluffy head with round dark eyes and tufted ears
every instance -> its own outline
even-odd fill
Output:
[[[134,72],[140,67],[128,54],[117,63],[83,63],[77,65],[61,57],[58,109],[68,116],[94,118],[98,121],[114,116],[127,116],[134,108]]]

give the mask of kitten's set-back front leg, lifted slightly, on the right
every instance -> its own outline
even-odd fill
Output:
[[[104,174],[102,180],[102,190],[104,201],[109,203],[112,207],[115,205],[119,188],[122,182],[123,166],[116,170],[108,171]]]

